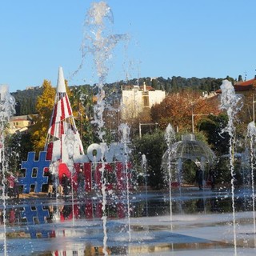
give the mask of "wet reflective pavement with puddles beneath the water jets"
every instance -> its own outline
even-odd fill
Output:
[[[235,191],[235,238],[230,191],[182,188],[110,194],[103,234],[102,197],[7,199],[1,255],[255,255],[249,188]],[[172,214],[170,214],[170,201]],[[2,217],[1,214],[1,217]]]

